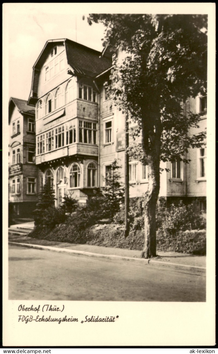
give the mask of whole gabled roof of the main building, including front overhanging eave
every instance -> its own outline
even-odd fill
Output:
[[[80,43],[66,38],[48,40],[33,66],[32,87],[28,103],[35,104],[38,100],[39,73],[47,55],[57,43],[64,44],[69,69],[72,69],[75,74],[94,78],[112,65],[111,58],[102,56],[102,52],[88,48]]]

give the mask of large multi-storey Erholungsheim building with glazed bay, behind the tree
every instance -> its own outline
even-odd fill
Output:
[[[104,83],[112,66],[109,50],[102,53],[68,39],[48,40],[33,67],[28,104],[35,106],[36,166],[39,185],[50,183],[56,206],[70,194],[85,204],[95,187],[105,184],[117,159],[124,179],[125,118],[108,98]],[[185,105],[200,114],[206,127],[206,98]],[[196,131],[190,131],[190,134]],[[130,142],[131,143],[131,142]],[[162,164],[160,196],[171,203],[196,199],[206,209],[206,148],[190,149],[192,161]],[[147,190],[147,167],[130,161],[130,197]]]

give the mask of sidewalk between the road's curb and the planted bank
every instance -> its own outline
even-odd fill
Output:
[[[21,228],[21,224],[17,225],[17,227]],[[30,223],[25,223],[22,227],[26,227],[30,229]],[[31,225],[33,228],[33,225]],[[16,229],[16,225],[13,225],[13,228]],[[127,250],[127,249],[120,249],[120,248],[112,248],[112,247],[103,247],[103,246],[93,246],[93,245],[78,245],[78,244],[71,244],[67,242],[56,242],[56,241],[47,241],[47,240],[39,240],[29,237],[28,235],[9,235],[8,236],[9,242],[17,242],[26,245],[35,245],[36,246],[45,246],[45,249],[55,250],[58,252],[74,252],[80,254],[86,254],[87,256],[102,256],[107,258],[116,258],[118,257],[125,257],[129,258],[129,260],[137,260],[141,258],[141,251],[137,250]],[[40,248],[40,247],[37,247]],[[152,258],[149,261],[149,264],[155,265],[174,265],[175,267],[180,265],[181,267],[199,267],[202,271],[206,268],[206,256],[193,256],[188,255],[186,253],[177,253],[177,252],[162,252],[157,251],[157,257]],[[111,256],[111,257],[110,257]],[[115,257],[114,257],[115,256]],[[125,259],[124,258],[124,259]],[[147,262],[148,263],[148,262]]]

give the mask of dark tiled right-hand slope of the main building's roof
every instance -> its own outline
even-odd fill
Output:
[[[65,41],[65,48],[68,64],[83,75],[94,77],[112,65],[111,59],[102,57],[101,52],[69,39]]]

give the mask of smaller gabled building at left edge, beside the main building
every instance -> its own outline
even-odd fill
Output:
[[[9,205],[10,217],[32,217],[38,193],[35,165],[35,110],[27,101],[9,101]]]

